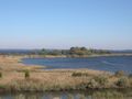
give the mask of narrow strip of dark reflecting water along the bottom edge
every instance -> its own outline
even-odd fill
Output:
[[[132,90],[1,94],[0,99],[132,99]]]

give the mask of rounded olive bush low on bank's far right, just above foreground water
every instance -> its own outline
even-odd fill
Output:
[[[128,87],[129,86],[129,79],[127,77],[123,77],[123,78],[120,78],[118,81],[117,81],[117,86],[118,87]]]

